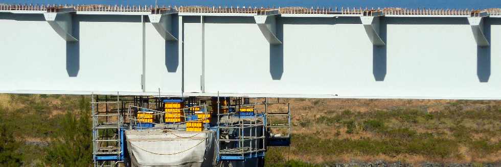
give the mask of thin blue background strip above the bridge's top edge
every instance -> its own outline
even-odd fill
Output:
[[[316,1],[278,1],[278,0],[157,0],[159,5],[202,5],[202,6],[325,6],[325,7],[402,7],[402,8],[501,8],[501,0],[316,0]],[[31,1],[13,1],[0,0],[0,3],[7,4],[134,4],[134,5],[152,5],[155,0],[31,0]]]

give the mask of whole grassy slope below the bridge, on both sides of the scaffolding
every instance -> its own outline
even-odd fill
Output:
[[[0,94],[2,124],[22,140],[24,165],[42,164],[66,111],[89,107],[81,96]],[[501,102],[283,99],[291,103],[292,146],[271,148],[267,164],[351,160],[499,162]],[[285,111],[285,106],[270,106]],[[277,120],[277,122],[283,120]],[[90,141],[89,141],[90,142]],[[89,161],[90,162],[90,161]],[[289,163],[302,162],[291,161]]]

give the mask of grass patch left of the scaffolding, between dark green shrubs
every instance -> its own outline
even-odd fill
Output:
[[[12,129],[14,136],[21,141],[19,152],[23,157],[23,166],[51,163],[45,156],[53,138],[64,129],[61,127],[64,113],[78,113],[89,107],[88,101],[82,101],[82,98],[85,97],[0,94],[0,114],[4,118],[1,122]]]

